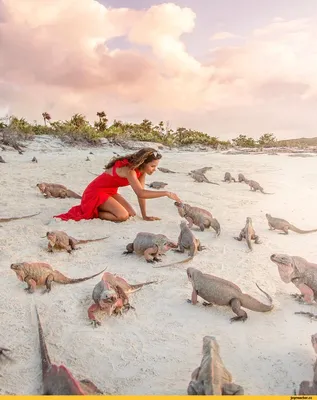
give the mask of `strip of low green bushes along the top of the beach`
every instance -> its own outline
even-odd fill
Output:
[[[155,125],[148,119],[144,119],[139,124],[114,120],[112,124],[109,124],[104,111],[97,112],[97,120],[93,124],[89,123],[82,114],[75,114],[70,120],[66,121],[53,121],[48,112],[43,112],[42,117],[42,124],[37,122],[32,124],[25,118],[16,116],[2,119],[2,122],[0,122],[0,145],[12,146],[18,150],[18,148],[23,147],[19,141],[32,140],[36,135],[52,135],[72,145],[98,146],[102,139],[108,139],[110,142],[118,144],[127,141],[144,141],[155,142],[170,148],[198,145],[220,149],[230,147],[301,147],[304,140],[277,141],[272,133],[265,133],[258,140],[241,134],[231,141],[223,141],[217,137],[209,136],[207,133],[183,127],[173,130],[168,123],[165,124],[163,121]],[[305,140],[317,144],[317,138]],[[307,146],[307,144],[304,143],[304,146]]]

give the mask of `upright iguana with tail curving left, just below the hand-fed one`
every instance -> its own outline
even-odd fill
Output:
[[[189,229],[189,226],[185,221],[182,221],[180,223],[180,234],[178,236],[178,248],[173,249],[172,251],[179,252],[179,253],[184,253],[185,250],[189,250],[188,258],[185,258],[183,261],[167,264],[167,265],[161,265],[159,267],[154,267],[154,268],[163,268],[163,267],[170,267],[172,265],[178,265],[178,264],[184,264],[194,258],[194,256],[197,254],[198,251],[204,250],[204,246],[200,244],[200,240],[196,239],[193,232]]]

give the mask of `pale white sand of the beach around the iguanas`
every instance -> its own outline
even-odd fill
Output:
[[[63,222],[53,215],[66,212],[76,199],[44,199],[35,185],[40,181],[62,183],[82,193],[94,179],[87,172],[102,172],[116,148],[92,149],[91,161],[85,161],[89,150],[62,149],[56,143],[32,143],[23,155],[2,152],[7,164],[0,164],[0,217],[21,216],[41,211],[32,219],[3,223],[0,228],[1,251],[1,332],[0,345],[12,349],[15,363],[0,365],[2,393],[35,394],[41,390],[38,333],[32,305],[36,302],[51,355],[56,363],[66,365],[77,378],[91,379],[101,390],[112,394],[186,394],[191,372],[201,360],[202,338],[215,335],[221,356],[234,381],[250,395],[291,394],[303,379],[311,379],[315,360],[310,335],[317,322],[310,322],[294,311],[317,312],[313,306],[295,302],[292,284],[281,282],[277,268],[269,260],[273,252],[300,255],[316,261],[317,234],[289,236],[269,231],[265,213],[290,220],[302,229],[317,227],[317,168],[314,158],[280,156],[223,155],[219,153],[165,152],[161,166],[181,174],[157,171],[148,182],[162,180],[168,188],[191,205],[210,210],[219,220],[222,233],[215,238],[213,230],[195,234],[207,249],[191,265],[230,279],[242,290],[266,302],[255,282],[274,299],[271,313],[248,311],[245,322],[230,324],[234,316],[226,307],[204,308],[188,304],[191,285],[185,269],[153,269],[136,255],[123,256],[127,243],[139,231],[167,234],[177,240],[181,218],[168,198],[148,200],[148,215],[162,218],[145,222],[139,216],[125,223],[101,220]],[[53,144],[55,143],[55,147]],[[41,150],[42,149],[42,150]],[[31,163],[36,155],[38,164]],[[207,172],[218,182],[224,173],[239,172],[259,181],[267,192],[252,193],[245,184],[214,186],[194,183],[186,173],[211,165]],[[252,168],[252,169],[250,169]],[[136,208],[131,188],[119,190]],[[232,237],[240,232],[247,216],[252,217],[263,244],[247,252],[246,243]],[[110,234],[104,242],[81,245],[69,255],[49,254],[46,231],[62,229],[77,238],[97,238]],[[167,253],[164,263],[181,260],[185,255]],[[10,264],[22,261],[50,263],[69,277],[79,278],[104,267],[130,283],[159,279],[161,283],[143,288],[131,295],[136,312],[123,318],[105,319],[93,329],[87,318],[91,293],[100,277],[76,285],[53,284],[52,292],[32,296],[17,280]]]

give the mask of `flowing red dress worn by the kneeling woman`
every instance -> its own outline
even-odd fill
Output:
[[[86,187],[81,203],[78,206],[72,207],[67,213],[54,215],[54,218],[60,218],[63,221],[70,219],[74,221],[80,221],[81,219],[93,219],[98,218],[98,207],[108,200],[110,196],[118,193],[118,188],[128,186],[129,181],[127,178],[121,178],[116,169],[127,166],[128,160],[118,160],[112,167],[112,175],[106,172],[97,176],[90,184]],[[137,177],[139,178],[141,172],[135,170]]]

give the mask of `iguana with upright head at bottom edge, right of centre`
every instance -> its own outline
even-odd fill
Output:
[[[232,382],[232,375],[225,367],[219,344],[214,336],[204,336],[203,356],[200,366],[191,375],[187,388],[189,395],[243,395],[242,386]]]

